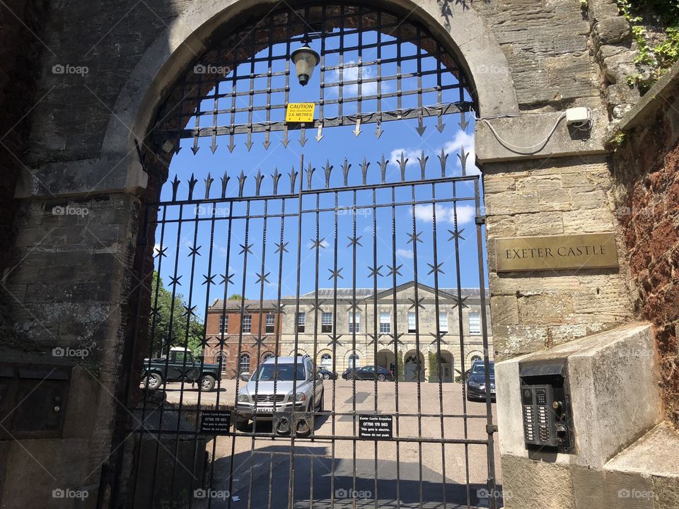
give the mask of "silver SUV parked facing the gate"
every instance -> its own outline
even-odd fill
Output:
[[[252,376],[241,378],[247,383],[238,390],[238,430],[248,426],[255,412],[259,421],[271,420],[274,411],[323,411],[323,375],[309,356],[279,357],[278,362],[268,358]]]

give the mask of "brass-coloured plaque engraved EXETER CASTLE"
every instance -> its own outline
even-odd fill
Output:
[[[549,271],[617,268],[615,234],[500,238],[497,271]]]

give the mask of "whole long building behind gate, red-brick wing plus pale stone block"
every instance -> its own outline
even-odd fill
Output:
[[[462,288],[460,322],[457,289],[442,288],[438,299],[438,324],[434,288],[420,284],[418,293],[422,306],[417,317],[412,305],[412,281],[395,289],[379,288],[377,302],[370,288],[356,288],[355,292],[351,288],[338,288],[337,292],[332,288],[320,288],[318,308],[316,293],[310,292],[300,296],[298,312],[294,297],[282,298],[283,313],[277,311],[274,300],[262,300],[261,306],[259,300],[245,300],[243,316],[249,318],[244,326],[240,322],[240,301],[226,301],[225,305],[223,300],[216,300],[208,310],[204,358],[206,362],[221,365],[225,378],[234,378],[239,372],[252,372],[257,368],[257,359],[265,361],[276,353],[286,356],[297,352],[312,356],[316,365],[338,374],[352,365],[376,364],[395,371],[400,362],[401,378],[407,382],[417,380],[415,370],[419,363],[422,367],[418,372],[420,380],[438,382],[436,373],[430,371],[434,363],[438,363],[432,358],[439,354],[436,334],[444,333],[440,344],[441,380],[453,382],[471,367],[473,361],[484,358],[480,292],[475,288]],[[352,313],[354,295],[356,310]],[[486,308],[487,317],[490,317],[489,306]],[[336,317],[333,310],[337,310]],[[492,330],[491,326],[487,320],[487,331]],[[395,334],[398,343],[393,341]],[[375,336],[377,347],[373,346]],[[492,359],[491,335],[488,344]]]

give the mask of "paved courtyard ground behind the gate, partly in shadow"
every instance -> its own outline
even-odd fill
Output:
[[[222,382],[220,406],[233,404],[235,388],[235,380]],[[169,384],[168,401],[179,402],[180,389],[181,384]],[[290,437],[236,434],[216,438],[214,462],[208,467],[216,496],[211,507],[226,508],[227,492],[232,508],[285,508],[289,496],[299,508],[352,507],[353,495],[356,507],[420,507],[421,500],[424,508],[488,506],[482,493],[487,481],[487,446],[439,442],[441,437],[487,438],[486,406],[483,402],[463,402],[461,384],[443,384],[439,392],[438,384],[422,383],[419,409],[417,383],[401,382],[398,397],[393,382],[378,383],[377,398],[374,382],[356,381],[355,397],[351,381],[337,380],[333,385],[332,380],[326,380],[324,390],[325,414],[316,417],[314,435],[334,435],[334,441],[298,438],[291,455]],[[202,393],[202,405],[214,404],[217,394]],[[197,397],[198,391],[185,385],[183,404],[195,404]],[[330,414],[333,404],[334,417]],[[395,414],[397,405],[400,414],[410,414],[394,419],[394,435],[402,441],[354,441],[354,404],[356,414],[373,413],[376,406],[381,414]],[[446,415],[443,420],[441,404]],[[417,415],[424,416],[418,419]],[[248,431],[253,431],[252,424]],[[271,433],[271,422],[257,421],[256,431]],[[419,436],[431,441],[419,445],[407,440]],[[210,442],[210,454],[212,447]],[[495,458],[499,472],[497,441]],[[197,506],[202,503],[198,501]]]

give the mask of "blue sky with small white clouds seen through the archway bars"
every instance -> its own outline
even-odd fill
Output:
[[[374,37],[374,35],[372,35]],[[331,39],[328,39],[330,44]],[[367,40],[366,40],[367,42]],[[312,44],[312,46],[314,46]],[[406,46],[412,45],[403,45]],[[414,46],[412,46],[414,48]],[[294,49],[294,48],[293,48]],[[315,47],[319,50],[319,47]],[[274,51],[278,49],[274,47]],[[284,49],[283,49],[284,51]],[[393,52],[393,48],[390,49]],[[262,52],[265,55],[268,50]],[[405,54],[405,49],[403,54]],[[382,57],[386,55],[383,53]],[[356,62],[352,60],[351,55],[345,55],[344,62]],[[364,61],[367,61],[374,56],[363,55]],[[433,61],[434,59],[428,59]],[[282,65],[282,64],[279,64]],[[332,65],[330,57],[326,59],[326,65]],[[431,62],[427,65],[431,66]],[[435,61],[434,61],[435,65]],[[241,66],[243,67],[243,66]],[[423,61],[423,69],[426,69]],[[247,72],[249,73],[249,64]],[[412,70],[412,69],[411,69]],[[257,69],[260,71],[260,69]],[[402,71],[408,72],[408,67],[404,64]],[[245,73],[245,69],[237,70],[238,74]],[[354,68],[354,74],[356,70]],[[363,76],[370,76],[371,73],[376,72],[375,69],[364,67]],[[384,74],[390,71],[383,69]],[[326,80],[328,82],[335,81],[336,77],[332,76],[333,71],[328,71]],[[344,72],[345,79],[347,79],[347,71]],[[301,87],[291,80],[291,102],[313,102],[318,100],[320,94],[320,73],[318,69],[315,70],[311,81],[306,87]],[[435,77],[432,76],[431,78]],[[452,75],[448,79],[453,79]],[[412,85],[403,83],[403,89],[407,89]],[[226,85],[220,85],[220,92],[224,91],[222,86],[228,86],[231,90],[231,81],[226,81]],[[249,86],[248,81],[242,82],[245,86]],[[383,92],[389,90],[389,87],[395,86],[395,82],[384,82]],[[393,83],[393,85],[392,85]],[[240,86],[240,83],[239,83]],[[363,94],[374,93],[375,84],[365,84]],[[424,83],[427,86],[427,83]],[[257,87],[257,85],[256,85]],[[371,90],[372,89],[372,90]],[[356,95],[358,93],[356,86],[344,86],[344,97]],[[458,95],[456,90],[451,90],[451,93]],[[326,90],[325,97],[331,98],[337,96],[337,89],[335,92]],[[432,97],[424,97],[424,105],[433,105],[436,103],[436,94]],[[468,99],[468,97],[467,97]],[[414,96],[413,96],[413,100]],[[444,94],[443,102],[458,100],[458,98],[448,97]],[[206,100],[209,102],[211,109],[213,100]],[[383,100],[383,110],[395,110],[395,98]],[[276,103],[275,98],[272,103]],[[281,101],[282,103],[282,101]],[[207,103],[206,103],[207,105]],[[238,98],[239,106],[247,106],[248,98],[241,96]],[[354,103],[355,105],[355,103]],[[375,110],[375,106],[364,104],[364,112],[371,112]],[[354,111],[350,109],[352,103],[345,103],[344,115],[352,114]],[[404,107],[407,103],[404,101]],[[335,116],[327,109],[325,116]],[[318,118],[318,107],[316,112]],[[276,119],[272,117],[272,119]],[[242,120],[242,119],[238,119]],[[255,121],[263,120],[257,118]],[[193,121],[189,123],[189,127],[193,126]],[[174,156],[170,165],[170,180],[174,175],[178,175],[182,180],[182,185],[178,192],[178,197],[183,198],[187,196],[187,187],[185,182],[190,175],[195,175],[198,183],[196,185],[195,196],[202,197],[204,194],[203,180],[210,173],[214,178],[211,188],[211,197],[216,197],[221,193],[220,177],[227,172],[230,180],[227,187],[227,196],[238,196],[238,175],[240,172],[248,177],[245,181],[245,196],[254,194],[255,189],[255,175],[258,171],[265,175],[265,180],[262,182],[262,194],[269,194],[272,190],[272,178],[270,175],[277,169],[283,176],[279,182],[279,193],[289,191],[289,177],[288,173],[294,168],[296,172],[300,171],[300,157],[303,155],[305,160],[305,170],[308,168],[308,163],[311,163],[313,172],[312,182],[314,189],[322,189],[325,187],[325,172],[324,168],[327,163],[333,166],[330,187],[342,187],[342,165],[344,158],[347,158],[347,163],[352,165],[349,170],[349,185],[360,185],[362,183],[361,163],[364,158],[366,162],[370,163],[368,167],[368,184],[381,182],[381,170],[379,161],[382,156],[388,160],[386,171],[386,181],[396,182],[400,180],[400,168],[397,164],[397,159],[400,158],[401,153],[408,159],[406,167],[406,180],[419,180],[420,165],[417,158],[422,158],[422,151],[424,156],[428,157],[426,163],[426,177],[440,177],[441,165],[439,163],[439,155],[441,148],[448,153],[446,161],[446,175],[459,176],[462,175],[460,158],[458,153],[463,148],[466,153],[469,153],[467,159],[467,173],[468,175],[477,175],[478,170],[474,165],[474,148],[473,136],[474,122],[471,120],[466,131],[463,131],[458,122],[460,122],[460,115],[448,115],[443,118],[446,128],[443,133],[439,133],[436,129],[436,117],[429,117],[424,119],[426,131],[423,136],[419,136],[415,128],[417,127],[417,120],[400,120],[395,122],[384,122],[382,124],[383,134],[380,139],[376,139],[374,131],[375,124],[362,124],[361,134],[354,135],[354,126],[333,127],[324,129],[324,138],[317,142],[315,140],[315,129],[308,129],[307,142],[305,146],[299,143],[299,131],[290,131],[289,145],[284,148],[281,143],[282,132],[273,132],[271,135],[271,146],[268,150],[262,146],[264,141],[264,134],[253,134],[254,145],[251,151],[247,151],[245,147],[245,135],[236,136],[236,148],[233,153],[228,151],[228,137],[217,139],[216,152],[213,154],[210,150],[211,139],[199,139],[199,151],[194,155],[191,151],[193,146],[192,139],[182,140],[182,149],[180,153]],[[306,189],[306,172],[304,175],[298,175],[297,182],[303,177],[304,187]],[[472,182],[461,182],[456,185],[456,192],[458,197],[472,197],[474,196]],[[436,185],[435,188],[437,199],[448,199],[452,197],[452,185],[450,183]],[[432,197],[431,184],[417,185],[415,187],[416,201],[429,201]],[[170,182],[166,183],[163,188],[162,199],[169,199],[171,197]],[[338,194],[338,202],[340,206],[352,206],[354,200],[353,192],[340,192]],[[411,188],[403,187],[397,189],[395,192],[395,199],[397,203],[411,200]],[[302,209],[315,209],[316,198],[314,196],[307,196],[303,198]],[[372,192],[369,190],[361,190],[356,192],[356,203],[361,205],[372,204]],[[376,192],[376,202],[378,204],[390,204],[392,201],[392,194],[390,189],[378,189]],[[335,194],[327,193],[320,195],[320,208],[333,207],[335,204]],[[267,204],[269,214],[277,214],[281,211],[281,200],[272,200]],[[291,213],[298,210],[299,204],[297,199],[286,200],[286,212]],[[250,205],[250,216],[262,215],[264,208],[263,201],[253,201]],[[175,269],[178,274],[183,274],[180,279],[181,285],[178,286],[178,292],[182,293],[185,298],[189,298],[191,293],[192,305],[197,305],[197,315],[204,315],[204,304],[206,300],[207,286],[202,284],[205,281],[204,274],[208,274],[209,258],[212,258],[211,274],[224,274],[226,272],[226,257],[228,254],[227,232],[228,232],[228,216],[229,204],[216,204],[215,215],[218,218],[215,221],[214,235],[211,233],[211,221],[204,221],[211,217],[211,204],[203,204],[202,206],[187,205],[182,211],[182,218],[195,219],[198,217],[201,221],[196,226],[195,221],[182,222],[182,231],[179,235],[177,223],[168,223],[165,228],[165,235],[163,238],[163,248],[167,247],[167,257],[163,257],[161,266],[161,276],[166,286],[170,282],[170,276],[174,275]],[[233,219],[231,224],[231,255],[228,262],[228,273],[234,274],[226,291],[227,296],[232,293],[242,293],[243,282],[243,261],[244,256],[240,254],[242,251],[240,245],[245,245],[245,203],[236,202],[233,204],[233,214],[242,216],[243,218]],[[162,213],[162,211],[161,211]],[[177,218],[179,213],[178,206],[168,207],[168,218]],[[461,265],[461,283],[463,286],[478,286],[478,264],[477,264],[477,238],[476,228],[474,224],[475,206],[474,201],[458,202],[457,206],[458,223],[460,228],[464,228],[462,233],[465,240],[460,239],[460,265]],[[407,243],[410,239],[409,233],[412,233],[413,216],[417,225],[417,232],[422,232],[420,238],[423,242],[418,242],[417,245],[417,270],[418,280],[424,284],[434,285],[433,274],[427,275],[431,271],[428,264],[434,263],[434,239],[432,228],[432,209],[431,204],[421,204],[413,207],[410,204],[397,206],[395,211],[395,228],[396,228],[396,255],[397,265],[402,265],[400,269],[401,276],[397,278],[397,284],[414,279],[414,257],[412,253],[412,243]],[[393,235],[392,235],[392,209],[391,207],[378,208],[375,211],[368,207],[368,209],[358,209],[354,214],[351,210],[342,212],[337,216],[338,223],[338,260],[337,267],[342,268],[340,274],[344,279],[338,279],[337,286],[340,288],[351,288],[352,277],[354,274],[353,252],[352,247],[347,247],[350,243],[348,238],[353,237],[354,218],[356,221],[356,237],[361,237],[359,243],[356,245],[356,286],[357,287],[372,287],[373,278],[369,276],[370,270],[368,267],[373,267],[373,227],[376,226],[376,251],[378,262],[377,265],[383,266],[381,274],[388,274],[387,266],[393,265]],[[439,264],[441,266],[442,274],[439,274],[439,287],[451,288],[457,285],[455,276],[455,252],[452,241],[448,238],[451,234],[448,229],[453,229],[453,204],[442,203],[436,206],[436,220],[437,220],[437,242],[436,253],[439,257]],[[376,225],[373,225],[373,222]],[[297,291],[298,279],[300,293],[313,291],[315,287],[315,252],[313,241],[316,238],[316,214],[313,212],[303,213],[303,221],[301,224],[301,242],[298,242],[298,218],[288,217],[284,222],[284,242],[289,242],[286,245],[284,252],[283,270],[279,271],[279,254],[277,254],[277,242],[279,242],[281,234],[281,218],[271,217],[266,221],[267,228],[267,242],[265,247],[262,244],[263,228],[265,221],[262,218],[250,218],[248,223],[248,244],[251,254],[248,254],[248,267],[245,269],[245,296],[247,298],[260,298],[261,283],[258,283],[259,276],[262,273],[262,260],[265,265],[264,274],[269,274],[267,279],[269,282],[264,283],[264,298],[276,298],[278,293],[279,272],[281,272],[281,288],[282,295],[294,295]],[[335,242],[335,212],[325,211],[318,214],[318,228],[320,231],[319,240],[325,238],[320,243],[321,247],[318,249],[318,286],[320,288],[332,287],[332,280],[328,280],[331,270],[335,268],[334,260],[334,242]],[[160,247],[160,229],[156,233],[156,248]],[[211,240],[212,238],[212,240]],[[192,257],[190,253],[193,248],[197,247],[199,256]],[[175,267],[175,253],[179,248],[178,263]],[[301,250],[301,269],[297,269],[298,247]],[[195,263],[195,264],[194,264]],[[193,276],[193,283],[190,284],[191,274]],[[210,295],[208,300],[211,302],[214,298],[221,298],[224,296],[224,286],[219,284],[221,276],[214,278],[214,283],[211,284]],[[378,287],[391,286],[393,279],[389,277],[378,277]]]

